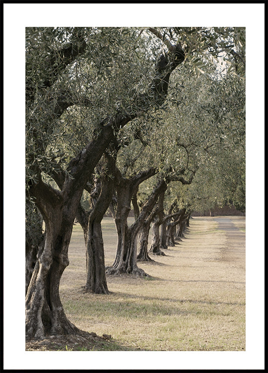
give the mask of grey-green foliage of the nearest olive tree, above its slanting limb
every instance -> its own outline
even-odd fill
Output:
[[[137,33],[113,27],[26,28],[28,185],[40,172],[66,170],[105,117],[118,108],[133,109],[133,90],[143,90],[153,72],[148,41]]]

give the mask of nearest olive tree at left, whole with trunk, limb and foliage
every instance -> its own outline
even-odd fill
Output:
[[[28,338],[80,332],[64,313],[59,283],[81,195],[119,130],[164,102],[170,75],[184,60],[178,43],[139,59],[137,43],[143,41],[131,29],[26,28],[26,190],[45,222],[26,293]],[[58,123],[76,106],[88,111],[91,131],[70,159],[56,146]]]

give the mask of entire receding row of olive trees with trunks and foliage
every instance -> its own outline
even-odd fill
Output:
[[[244,146],[243,28],[26,28],[26,336],[80,333],[59,295],[75,218],[85,290],[108,293],[106,275],[146,276],[137,260],[163,255],[200,203],[243,208]]]

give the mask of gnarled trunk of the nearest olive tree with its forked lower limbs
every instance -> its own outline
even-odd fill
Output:
[[[38,184],[30,187],[31,196],[45,221],[46,235],[26,293],[26,338],[80,333],[64,313],[59,285],[62,273],[69,265],[68,248],[82,191],[93,171],[92,165],[98,162],[112,136],[113,131],[104,128],[99,141],[92,140],[70,162],[72,178],[59,176],[61,191],[44,183],[41,176]]]

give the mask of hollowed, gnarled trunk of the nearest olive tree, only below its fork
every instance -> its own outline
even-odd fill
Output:
[[[69,265],[68,246],[74,216],[59,220],[62,203],[54,200],[53,204],[53,208],[46,206],[43,215],[46,223],[45,244],[39,249],[38,261],[26,294],[26,338],[79,332],[67,319],[59,295],[61,276]]]

